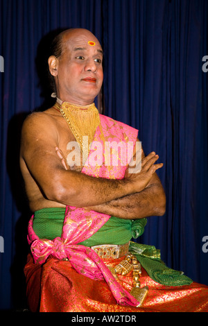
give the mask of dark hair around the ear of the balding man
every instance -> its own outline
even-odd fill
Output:
[[[50,46],[49,57],[51,55],[54,55],[55,58],[60,58],[60,56],[62,55],[62,33],[56,35],[55,38],[53,39]],[[55,80],[54,77],[51,75],[49,67],[48,67],[48,74],[49,74],[51,89],[53,92],[56,92]]]

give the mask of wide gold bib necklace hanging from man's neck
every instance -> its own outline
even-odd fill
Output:
[[[59,105],[58,102],[53,105],[60,110],[60,113],[67,121],[67,124],[76,138],[83,153],[83,136],[88,137],[88,146],[85,148],[89,153],[89,144],[94,139],[96,128],[101,123],[98,110],[94,103],[89,105],[78,105],[69,102],[63,102]],[[57,109],[55,109],[57,110]]]

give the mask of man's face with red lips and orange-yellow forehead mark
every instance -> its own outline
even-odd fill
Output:
[[[92,103],[103,83],[101,45],[89,31],[74,31],[63,36],[62,49],[56,76],[58,97],[83,105]]]

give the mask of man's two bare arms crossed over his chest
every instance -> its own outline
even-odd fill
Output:
[[[71,171],[59,145],[59,132],[48,114],[32,114],[26,119],[21,139],[21,166],[26,166],[46,200],[120,218],[164,214],[166,198],[155,173],[162,164],[155,164],[158,159],[155,153],[146,157],[143,153],[139,173],[130,175],[127,171],[123,180],[107,180]]]

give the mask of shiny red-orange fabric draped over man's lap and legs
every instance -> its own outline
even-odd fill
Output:
[[[115,266],[121,259],[107,260]],[[95,281],[78,274],[69,261],[49,258],[45,264],[34,264],[31,255],[24,269],[28,305],[42,312],[208,312],[208,286],[193,282],[189,286],[164,286],[150,279],[144,268],[141,287],[149,291],[142,307],[116,304],[105,280]],[[132,275],[121,277],[123,288],[132,289]]]

